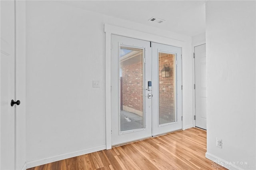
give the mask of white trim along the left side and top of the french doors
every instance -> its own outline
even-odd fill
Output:
[[[106,149],[112,148],[111,142],[111,34],[119,36],[126,36],[130,38],[137,38],[140,40],[152,41],[156,43],[163,43],[176,47],[186,46],[186,42],[181,40],[174,40],[146,32],[131,30],[118,26],[104,24],[105,32],[105,111],[106,111]],[[182,122],[184,123],[184,121]]]

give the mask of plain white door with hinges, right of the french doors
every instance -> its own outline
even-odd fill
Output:
[[[206,44],[194,47],[196,127],[206,129]]]

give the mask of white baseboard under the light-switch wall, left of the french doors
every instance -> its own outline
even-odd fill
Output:
[[[70,152],[70,153],[66,153],[66,154],[51,156],[51,157],[40,159],[40,160],[33,160],[33,161],[26,162],[26,168],[33,168],[35,166],[40,166],[40,165],[43,165],[43,164],[48,164],[48,163],[51,163],[51,162],[56,162],[56,161],[59,161],[59,160],[72,158],[72,157],[75,157],[75,156],[80,156],[80,155],[84,155],[84,154],[88,154],[88,153],[92,153],[92,152],[97,152],[97,151],[104,150],[104,149],[106,149],[105,144],[101,145],[101,146],[94,147],[94,148],[78,150],[78,151],[75,151],[75,152]],[[23,168],[22,168],[22,170],[23,170]]]

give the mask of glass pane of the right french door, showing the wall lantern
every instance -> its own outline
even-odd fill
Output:
[[[175,55],[158,52],[159,63],[159,125],[176,121]]]

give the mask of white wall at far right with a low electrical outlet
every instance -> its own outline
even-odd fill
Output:
[[[206,157],[231,162],[230,169],[256,168],[255,6],[255,1],[206,2]]]

